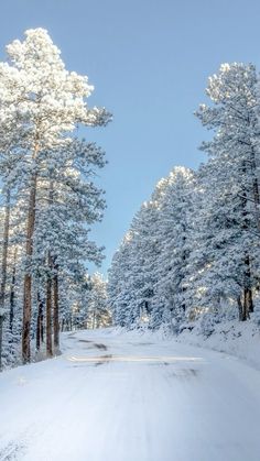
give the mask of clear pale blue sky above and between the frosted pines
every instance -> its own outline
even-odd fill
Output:
[[[68,69],[95,85],[89,105],[113,122],[89,139],[107,152],[98,179],[108,208],[93,237],[106,272],[133,213],[174,165],[196,167],[206,136],[193,111],[223,62],[260,68],[259,0],[6,0],[0,57],[26,29],[45,28]]]

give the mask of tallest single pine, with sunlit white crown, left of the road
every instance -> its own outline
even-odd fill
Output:
[[[62,284],[75,264],[83,268],[83,254],[84,260],[100,261],[100,251],[88,241],[85,224],[100,219],[105,206],[102,191],[93,183],[94,168],[105,165],[104,153],[95,144],[77,140],[75,129],[106,125],[111,117],[104,108],[88,108],[86,98],[93,86],[86,76],[66,70],[45,30],[26,31],[25,40],[12,42],[7,53],[9,63],[0,65],[0,130],[9,123],[12,144],[9,150],[1,144],[1,152],[2,157],[14,158],[8,184],[12,179],[15,187],[19,177],[26,208],[22,328],[26,363],[31,358],[32,303],[37,299],[40,282],[54,290],[58,348],[57,277]],[[7,168],[1,175],[7,176]],[[52,354],[51,344],[47,352]]]

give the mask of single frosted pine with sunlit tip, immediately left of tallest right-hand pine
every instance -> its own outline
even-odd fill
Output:
[[[154,308],[162,311],[163,322],[175,329],[185,318],[185,277],[191,253],[191,213],[194,207],[194,173],[175,167],[163,179],[159,201],[158,240],[161,252],[156,257]],[[161,182],[156,188],[161,187]],[[156,193],[155,193],[156,194]]]

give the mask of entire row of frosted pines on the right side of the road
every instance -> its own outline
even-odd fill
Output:
[[[109,274],[113,321],[173,331],[198,321],[258,319],[260,277],[259,77],[225,64],[196,117],[213,132],[198,171],[174,168],[133,219]],[[257,321],[257,320],[256,320]]]

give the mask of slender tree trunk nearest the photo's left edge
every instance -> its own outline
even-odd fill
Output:
[[[7,202],[4,211],[3,241],[2,241],[2,277],[0,287],[0,370],[2,370],[2,329],[3,329],[3,310],[6,300],[7,270],[8,270],[8,244],[10,228],[10,190],[7,191]]]

